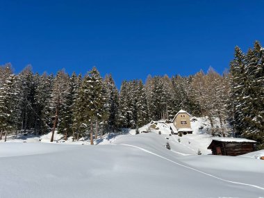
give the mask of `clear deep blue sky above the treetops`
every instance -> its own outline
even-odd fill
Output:
[[[85,74],[117,83],[148,74],[222,73],[236,45],[264,45],[264,1],[0,0],[0,65]]]

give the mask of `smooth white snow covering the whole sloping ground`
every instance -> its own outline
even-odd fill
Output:
[[[256,159],[264,151],[208,155],[211,136],[200,125],[179,137],[159,122],[152,133],[130,130],[98,145],[62,142],[60,135],[53,144],[49,135],[9,139],[0,143],[0,197],[264,197],[264,160]]]

